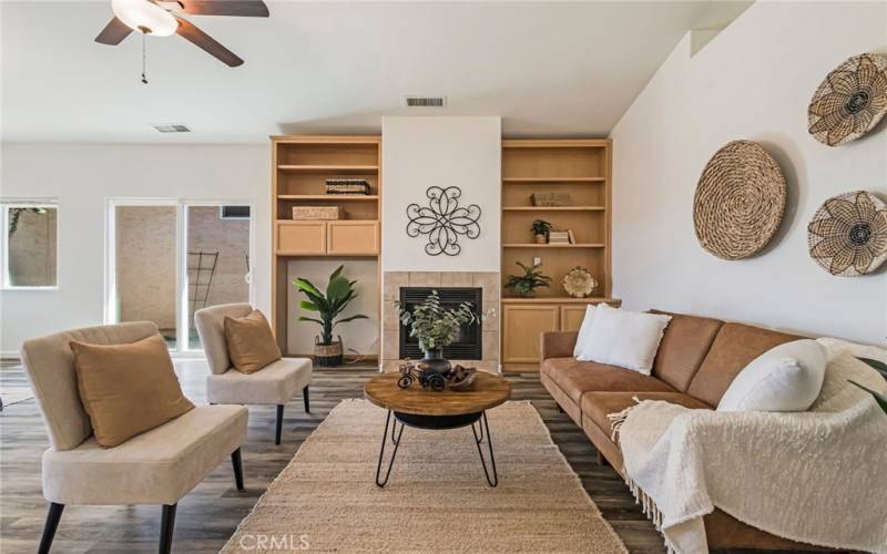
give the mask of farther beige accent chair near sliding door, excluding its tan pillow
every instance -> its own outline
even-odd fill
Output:
[[[248,304],[223,304],[194,312],[194,324],[201,337],[210,373],[206,377],[206,399],[220,404],[275,404],[277,430],[274,443],[281,443],[284,406],[302,390],[305,412],[310,413],[308,386],[312,382],[312,360],[282,358],[255,373],[241,373],[232,367],[225,340],[225,317],[244,317],[253,311]]]

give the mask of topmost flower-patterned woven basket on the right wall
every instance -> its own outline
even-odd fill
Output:
[[[868,133],[887,113],[887,55],[855,55],[829,73],[807,109],[817,141],[839,146]]]

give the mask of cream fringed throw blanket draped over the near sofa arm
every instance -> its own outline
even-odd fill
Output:
[[[837,353],[807,412],[648,400],[613,414],[629,486],[669,550],[708,552],[702,516],[720,507],[793,541],[887,553],[887,414],[848,379],[887,391],[876,371]]]

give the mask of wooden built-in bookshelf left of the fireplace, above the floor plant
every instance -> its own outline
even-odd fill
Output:
[[[375,259],[378,266],[380,167],[380,136],[272,137],[272,325],[283,352],[310,353],[287,348],[293,317],[288,296],[296,294],[289,284],[290,263],[359,258]],[[368,194],[327,194],[327,179],[344,178],[366,181]],[[295,206],[336,206],[340,215],[329,220],[295,220]],[[377,277],[375,286],[380,283]]]

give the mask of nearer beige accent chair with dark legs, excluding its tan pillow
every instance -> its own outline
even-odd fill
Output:
[[[95,442],[69,343],[123,345],[156,334],[152,322],[120,324],[60,332],[22,346],[21,359],[51,444],[43,452],[43,496],[50,507],[39,553],[50,551],[69,504],[161,504],[160,552],[169,553],[179,500],[221,461],[231,456],[237,490],[243,490],[241,444],[246,441],[247,411],[242,406],[198,406],[118,447]]]

